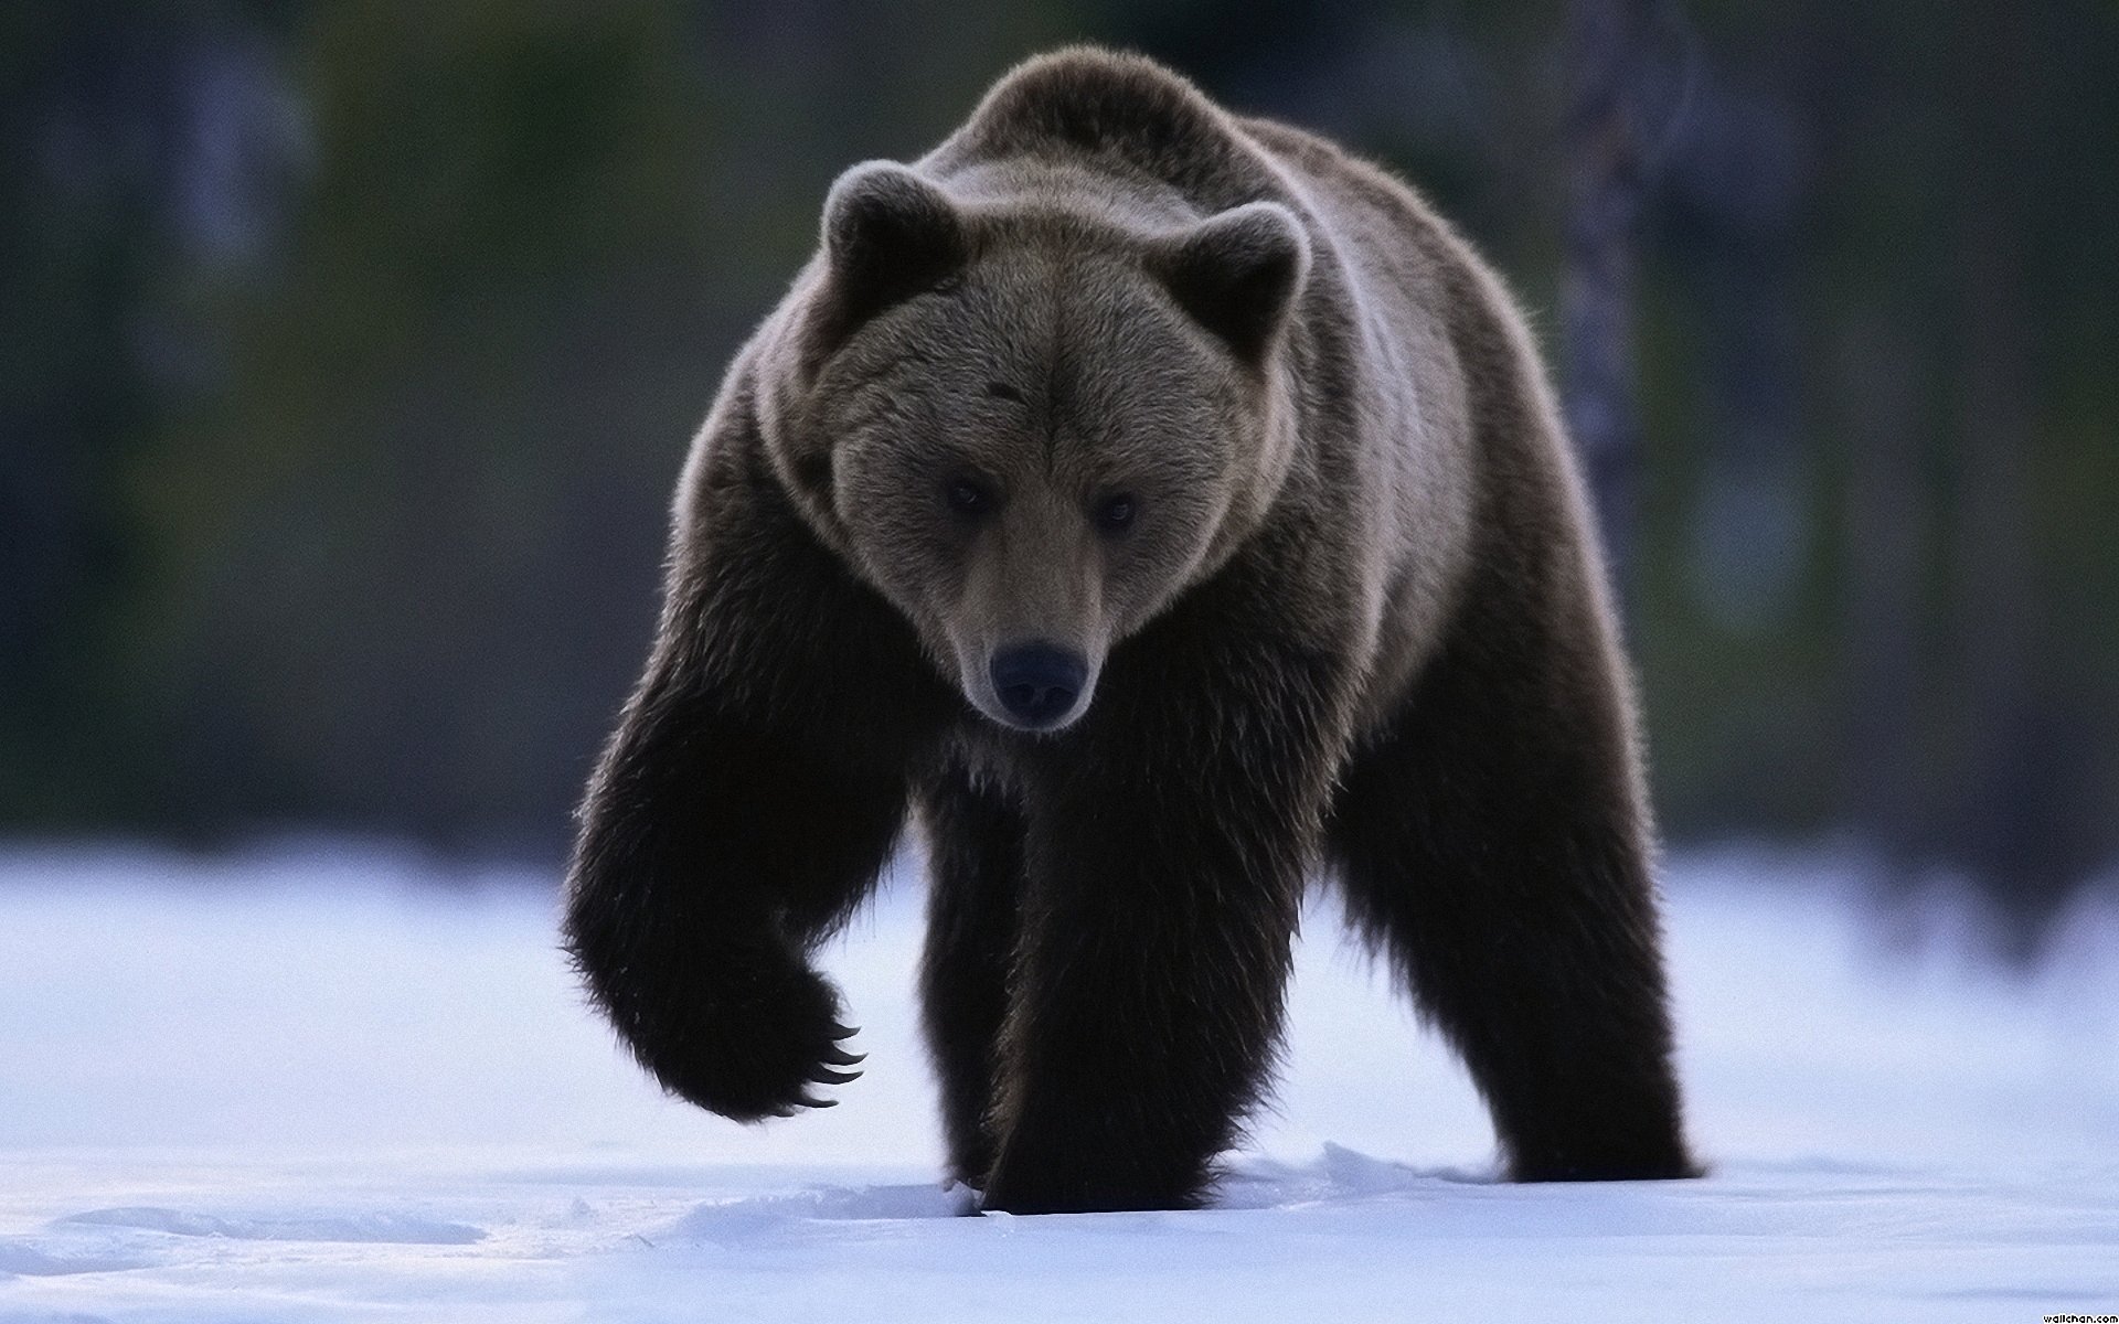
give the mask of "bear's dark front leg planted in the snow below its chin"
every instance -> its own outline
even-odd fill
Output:
[[[987,1210],[1197,1205],[1280,1040],[1337,678],[1301,648],[1201,672],[1153,648],[1032,782]]]

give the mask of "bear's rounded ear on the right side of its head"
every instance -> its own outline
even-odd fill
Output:
[[[1254,201],[1168,241],[1153,267],[1185,311],[1259,362],[1310,273],[1310,237],[1280,203]]]

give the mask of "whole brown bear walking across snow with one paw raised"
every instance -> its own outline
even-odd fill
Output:
[[[852,1078],[812,949],[907,820],[987,1210],[1197,1203],[1305,875],[1517,1180],[1693,1171],[1634,708],[1524,320],[1405,184],[1129,55],[852,167],[684,468],[566,943],[670,1091]]]

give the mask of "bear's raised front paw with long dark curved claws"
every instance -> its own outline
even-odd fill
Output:
[[[644,1055],[663,1089],[740,1123],[837,1106],[818,1087],[860,1078],[845,1068],[865,1055],[843,1044],[856,1030],[839,1023],[831,983],[795,970],[784,981],[752,974],[742,985],[735,994],[708,991],[689,1034]]]

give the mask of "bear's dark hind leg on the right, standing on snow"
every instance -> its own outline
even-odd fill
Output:
[[[1515,1180],[1691,1176],[1621,680],[1587,616],[1511,638],[1496,600],[1471,595],[1346,771],[1350,915],[1456,1044]]]

